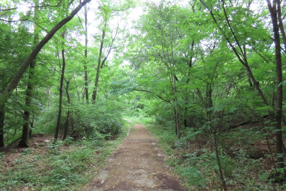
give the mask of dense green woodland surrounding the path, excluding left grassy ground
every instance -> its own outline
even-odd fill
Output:
[[[285,15],[279,0],[1,1],[0,147],[148,118],[190,190],[285,189]]]

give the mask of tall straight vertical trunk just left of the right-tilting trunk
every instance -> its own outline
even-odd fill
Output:
[[[84,49],[84,58],[85,62],[83,65],[84,68],[84,91],[85,91],[85,99],[86,104],[89,104],[89,88],[88,88],[88,75],[87,75],[87,7],[84,6],[84,27],[85,27],[85,49]]]

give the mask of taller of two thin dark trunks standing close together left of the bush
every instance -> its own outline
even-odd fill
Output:
[[[65,39],[65,31],[62,32],[62,38]],[[64,42],[62,43],[64,46]],[[60,101],[59,101],[59,113],[58,113],[58,120],[57,120],[57,127],[56,132],[54,135],[54,141],[56,142],[59,135],[60,130],[60,123],[61,123],[61,115],[62,115],[62,89],[63,89],[63,82],[65,76],[65,49],[62,49],[62,74],[61,74],[61,81],[60,81]]]

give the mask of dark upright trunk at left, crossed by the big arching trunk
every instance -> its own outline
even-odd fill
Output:
[[[38,0],[35,1],[35,17],[34,21],[37,23],[38,13]],[[39,42],[39,32],[38,32],[38,26],[34,24],[34,46],[36,46]],[[26,92],[26,100],[25,100],[25,110],[24,110],[24,125],[22,130],[22,139],[19,143],[20,147],[29,147],[30,146],[30,110],[32,107],[32,97],[33,92],[35,91],[35,82],[34,82],[34,76],[35,76],[35,68],[36,68],[36,59],[34,58],[33,61],[30,63],[30,71],[29,71],[29,79],[28,79],[28,85],[27,85],[27,92]]]

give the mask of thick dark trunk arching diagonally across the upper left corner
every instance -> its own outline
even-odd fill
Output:
[[[1,93],[0,95],[0,108],[4,107],[6,101],[8,100],[8,98],[11,96],[11,94],[13,93],[13,91],[15,90],[15,88],[17,87],[21,77],[23,76],[23,74],[25,73],[25,71],[28,69],[30,63],[34,60],[34,58],[36,58],[36,56],[38,55],[38,53],[40,52],[40,50],[44,47],[44,45],[54,36],[54,34],[60,29],[62,28],[62,26],[64,26],[66,23],[68,23],[74,16],[75,14],[88,2],[90,2],[91,0],[83,0],[81,1],[81,3],[75,8],[73,9],[73,11],[71,12],[70,15],[68,15],[67,17],[65,17],[63,20],[61,20],[59,23],[57,23],[54,28],[52,28],[47,34],[46,36],[37,44],[37,46],[33,49],[33,51],[30,53],[30,55],[28,56],[28,58],[21,64],[20,68],[18,69],[18,71],[16,72],[16,74],[14,75],[14,77],[12,77],[12,79],[10,79],[10,83],[7,86],[7,88]],[[0,124],[1,125],[1,124]],[[1,129],[1,127],[0,127]]]

